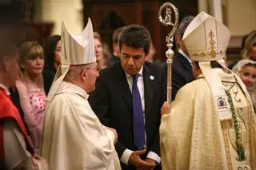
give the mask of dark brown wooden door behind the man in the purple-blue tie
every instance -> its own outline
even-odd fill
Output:
[[[150,30],[156,49],[155,59],[166,60],[166,35],[170,28],[158,22],[158,10],[167,1],[162,0],[84,0],[85,23],[90,17],[94,30],[102,36],[102,42],[111,47],[113,31],[120,26],[138,24]],[[188,14],[198,14],[197,0],[169,1],[178,7],[180,20]]]

